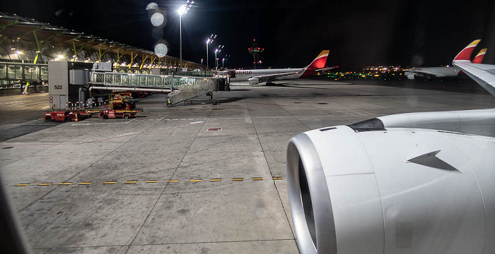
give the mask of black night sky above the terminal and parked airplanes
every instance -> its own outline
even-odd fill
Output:
[[[179,57],[179,16],[185,1],[154,1],[167,24],[154,28],[146,6],[151,1],[3,1],[0,11],[35,18],[125,44],[153,50],[159,40]],[[448,3],[448,4],[446,4]],[[252,67],[253,39],[265,49],[263,67],[308,65],[330,49],[328,66],[359,70],[371,65],[450,64],[468,43],[482,39],[484,63],[495,63],[495,1],[220,1],[197,0],[182,17],[182,58],[206,61],[225,45],[229,68]],[[480,47],[481,46],[481,47]],[[223,57],[223,55],[219,55]]]

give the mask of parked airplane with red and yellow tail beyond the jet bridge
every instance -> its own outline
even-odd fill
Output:
[[[323,50],[310,65],[304,68],[261,69],[261,70],[235,70],[235,78],[231,81],[248,80],[250,85],[266,82],[272,84],[274,80],[290,80],[303,78],[317,72],[328,71],[333,67],[324,68],[330,50]]]

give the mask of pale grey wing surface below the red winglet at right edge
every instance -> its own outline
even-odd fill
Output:
[[[454,65],[495,96],[495,65],[471,63],[471,61],[454,61]]]

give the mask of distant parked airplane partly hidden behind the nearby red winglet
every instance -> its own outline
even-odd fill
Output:
[[[487,49],[482,49],[479,51],[476,57],[473,59],[473,63],[482,63],[484,54]],[[404,73],[404,75],[413,80],[414,78],[447,78],[447,77],[457,77],[462,74],[460,68],[456,66],[445,66],[445,67],[421,67],[421,68],[409,68]]]

